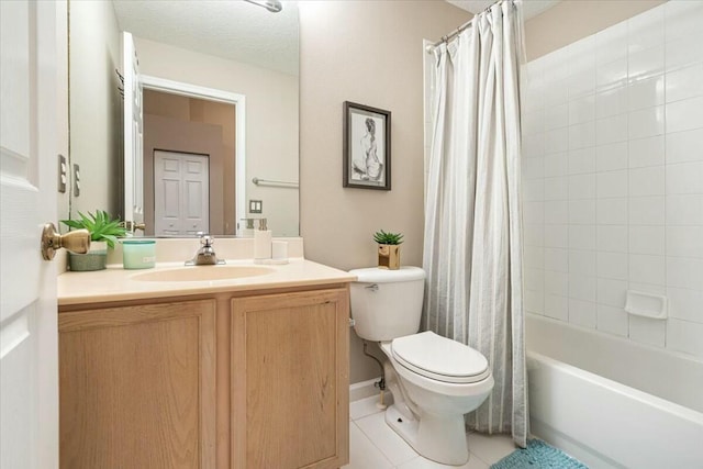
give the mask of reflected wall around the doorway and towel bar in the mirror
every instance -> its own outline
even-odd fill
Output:
[[[267,217],[276,236],[297,236],[298,190],[256,187],[252,179],[298,181],[298,77],[140,37],[134,41],[144,75],[246,96],[247,199],[264,201],[264,214],[254,216]]]

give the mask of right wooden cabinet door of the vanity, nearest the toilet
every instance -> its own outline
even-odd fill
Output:
[[[232,467],[348,462],[348,290],[232,300]]]

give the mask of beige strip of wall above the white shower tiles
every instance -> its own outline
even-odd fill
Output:
[[[663,0],[563,0],[525,22],[527,60],[663,3]]]

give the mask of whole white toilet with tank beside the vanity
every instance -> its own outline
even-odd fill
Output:
[[[427,459],[464,465],[469,458],[464,414],[493,389],[488,361],[479,351],[420,330],[425,272],[352,270],[352,316],[359,337],[379,342],[388,360],[386,384],[393,405],[386,422]]]

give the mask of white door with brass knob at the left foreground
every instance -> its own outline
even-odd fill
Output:
[[[0,1],[0,467],[58,467],[57,22],[54,1]],[[65,12],[64,12],[65,16]],[[60,43],[60,42],[59,42]],[[65,90],[64,90],[65,91]],[[66,114],[67,115],[67,114]]]

